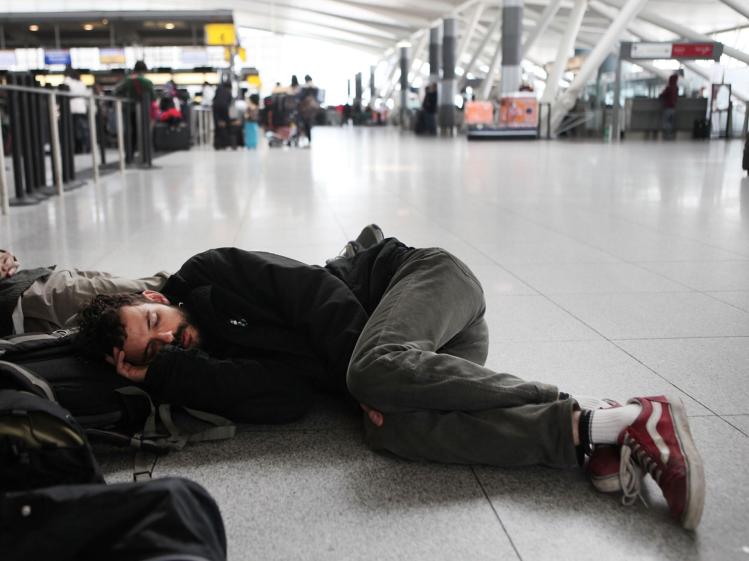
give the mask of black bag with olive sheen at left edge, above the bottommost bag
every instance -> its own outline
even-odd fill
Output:
[[[0,361],[0,491],[103,482],[82,426],[52,387]]]

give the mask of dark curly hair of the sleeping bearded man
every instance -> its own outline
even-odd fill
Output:
[[[100,294],[81,304],[76,316],[79,331],[73,343],[87,358],[103,360],[115,346],[121,349],[127,339],[120,308],[150,302],[139,294]]]

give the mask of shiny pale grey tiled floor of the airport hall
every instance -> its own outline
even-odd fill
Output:
[[[0,217],[25,266],[142,276],[208,247],[322,263],[376,221],[485,285],[495,370],[624,400],[684,399],[703,522],[658,488],[622,506],[582,470],[371,453],[322,398],[290,426],[160,459],[216,497],[232,560],[749,560],[749,179],[739,141],[467,143],[315,129],[310,150],[192,150]],[[130,455],[97,446],[109,481]]]

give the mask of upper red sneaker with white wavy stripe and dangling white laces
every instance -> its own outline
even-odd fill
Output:
[[[705,472],[689,432],[679,396],[634,397],[643,410],[619,435],[622,465],[630,456],[661,487],[673,518],[687,530],[700,524],[705,504]]]

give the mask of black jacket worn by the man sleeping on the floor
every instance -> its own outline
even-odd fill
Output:
[[[386,239],[325,268],[237,248],[195,255],[162,292],[191,314],[201,349],[165,346],[145,386],[236,421],[300,417],[313,388],[346,392],[359,335],[412,249]]]

